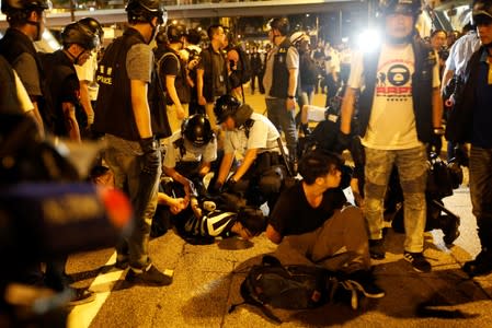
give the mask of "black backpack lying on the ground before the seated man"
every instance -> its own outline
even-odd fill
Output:
[[[261,265],[253,266],[241,283],[243,303],[259,307],[273,321],[282,320],[266,307],[308,309],[328,303],[335,291],[337,280],[333,272],[314,266],[282,266],[273,256],[263,257]]]

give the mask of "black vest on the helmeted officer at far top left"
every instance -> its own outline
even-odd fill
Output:
[[[15,28],[8,28],[5,35],[0,39],[0,54],[13,65],[15,60],[22,54],[31,55],[36,61],[37,72],[39,75],[39,85],[43,94],[42,98],[36,99],[39,114],[43,118],[44,127],[47,131],[54,132],[55,130],[55,110],[53,108],[53,102],[49,97],[48,87],[45,81],[45,74],[39,56],[34,48],[32,40],[22,32]]]

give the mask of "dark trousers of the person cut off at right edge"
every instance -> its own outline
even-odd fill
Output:
[[[492,249],[492,149],[471,145],[470,196],[482,248]]]

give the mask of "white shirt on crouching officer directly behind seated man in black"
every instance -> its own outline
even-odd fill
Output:
[[[245,133],[245,128],[226,131],[224,140],[224,152],[236,153],[237,160],[242,160],[247,150],[258,149],[258,153],[263,152],[278,152],[277,139],[279,133],[275,126],[265,116],[253,113],[251,119],[254,120],[250,128],[249,138]]]

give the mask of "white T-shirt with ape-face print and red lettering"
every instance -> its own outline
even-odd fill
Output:
[[[366,55],[367,56],[367,55]],[[364,86],[363,54],[354,54],[348,86]],[[412,45],[382,45],[377,67],[377,82],[365,147],[379,150],[402,150],[420,147],[412,99],[412,74],[415,59]],[[439,69],[433,70],[433,87],[439,87]]]

